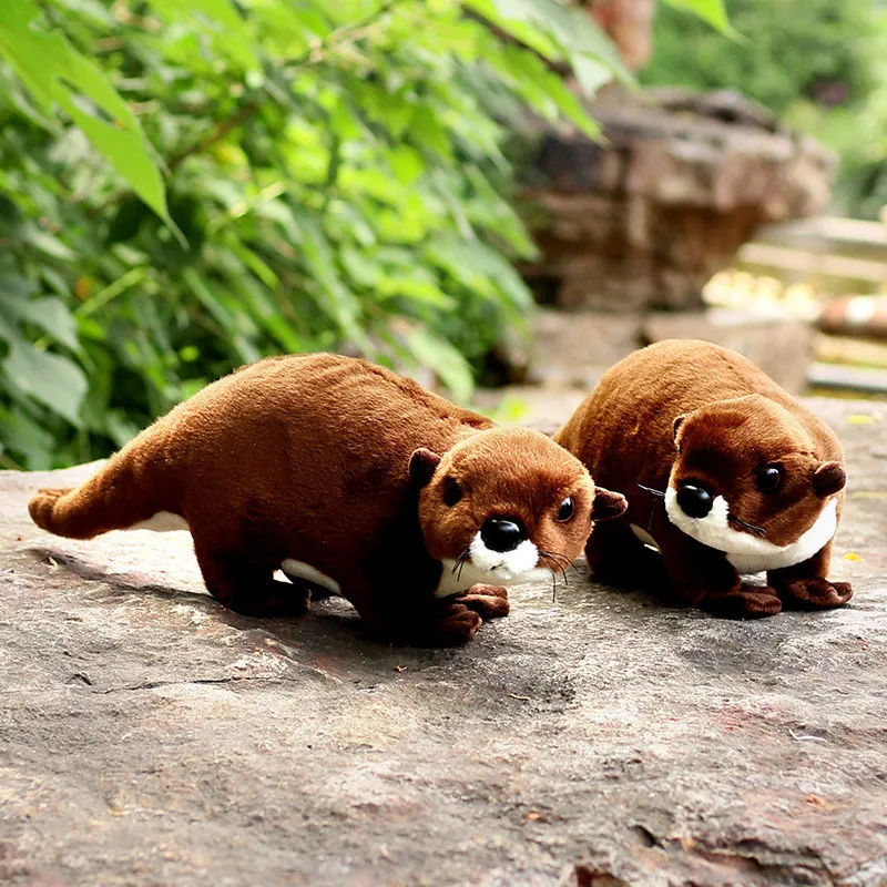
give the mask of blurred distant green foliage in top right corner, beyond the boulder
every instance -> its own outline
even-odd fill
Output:
[[[682,6],[684,0],[672,0]],[[887,14],[873,0],[727,0],[742,39],[660,7],[649,85],[735,89],[840,159],[845,212],[887,203]]]

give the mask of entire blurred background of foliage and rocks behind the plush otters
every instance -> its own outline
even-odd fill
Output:
[[[670,337],[887,392],[879,0],[8,0],[0,467],[268,354],[557,424]]]

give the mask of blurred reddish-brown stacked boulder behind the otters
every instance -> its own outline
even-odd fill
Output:
[[[521,133],[542,253],[523,272],[561,308],[700,307],[759,225],[828,201],[832,154],[735,93],[615,86],[590,110],[606,144],[548,124]]]

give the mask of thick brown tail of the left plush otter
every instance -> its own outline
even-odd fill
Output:
[[[169,472],[145,443],[132,441],[75,489],[40,490],[28,503],[33,522],[57,536],[90,539],[174,508]]]

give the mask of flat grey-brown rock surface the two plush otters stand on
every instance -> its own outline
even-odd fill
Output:
[[[849,606],[728,622],[580,567],[461,650],[233,615],[182,534],[29,524],[89,469],[0,475],[0,883],[887,884],[887,417],[814,407]]]

